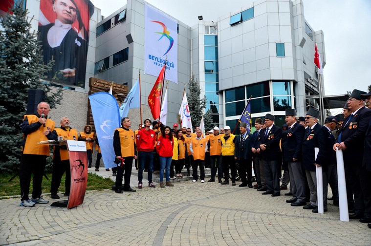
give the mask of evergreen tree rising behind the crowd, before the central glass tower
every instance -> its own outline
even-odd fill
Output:
[[[187,94],[187,99],[188,99],[189,111],[191,113],[193,130],[196,130],[196,127],[199,126],[202,115],[203,115],[203,120],[205,124],[205,129],[210,128],[211,127],[210,110],[208,110],[206,114],[203,114],[203,110],[206,109],[206,97],[203,99],[200,99],[199,95],[201,93],[201,89],[199,88],[198,81],[197,79],[195,80],[195,75],[193,73],[188,83],[188,89],[189,89],[189,93]]]

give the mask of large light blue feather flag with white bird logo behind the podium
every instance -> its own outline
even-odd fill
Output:
[[[120,128],[120,116],[116,99],[107,92],[89,95],[95,131],[99,139],[105,168],[117,167],[113,150],[113,133]]]

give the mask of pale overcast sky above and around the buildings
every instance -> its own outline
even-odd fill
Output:
[[[91,0],[103,16],[126,0]],[[253,0],[147,0],[176,19],[193,26],[246,6]],[[314,31],[325,37],[325,95],[340,95],[371,84],[371,0],[303,0],[304,15]],[[313,51],[314,56],[314,51]],[[314,57],[313,57],[314,58]]]

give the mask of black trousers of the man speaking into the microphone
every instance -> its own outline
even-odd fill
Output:
[[[32,179],[32,197],[41,196],[41,183],[46,165],[46,155],[22,154],[20,165],[21,201],[29,199],[29,190]]]

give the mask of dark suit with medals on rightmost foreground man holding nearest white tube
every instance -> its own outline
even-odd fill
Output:
[[[371,216],[371,174],[362,167],[362,162],[370,119],[371,110],[365,107],[354,115],[350,114],[344,120],[337,140],[338,143],[344,142],[347,147],[343,150],[345,178],[354,194],[355,213],[364,213],[366,216]],[[365,159],[366,162],[369,160]]]

